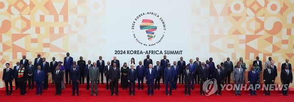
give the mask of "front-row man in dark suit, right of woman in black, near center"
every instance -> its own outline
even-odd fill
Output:
[[[129,95],[135,95],[135,83],[137,82],[137,69],[134,69],[134,64],[131,64],[131,69],[128,69],[127,82],[129,82]]]

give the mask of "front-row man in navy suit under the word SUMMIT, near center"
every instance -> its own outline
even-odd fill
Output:
[[[152,64],[149,64],[149,68],[146,69],[146,83],[148,95],[154,94],[154,81],[155,81],[155,70],[152,68]]]

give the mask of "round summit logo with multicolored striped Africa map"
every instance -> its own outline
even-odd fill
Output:
[[[161,15],[145,12],[134,18],[131,31],[139,44],[154,46],[163,40],[166,34],[166,23]]]

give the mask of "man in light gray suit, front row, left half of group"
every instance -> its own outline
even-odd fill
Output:
[[[97,90],[97,81],[99,79],[99,68],[96,66],[96,62],[93,62],[93,67],[90,67],[89,69],[89,77],[91,81],[91,96],[98,95]],[[94,91],[94,85],[95,85],[95,94],[93,94]]]

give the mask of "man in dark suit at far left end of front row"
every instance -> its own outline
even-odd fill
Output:
[[[5,83],[6,95],[12,94],[12,82],[13,82],[13,69],[9,68],[10,64],[6,63],[6,68],[3,69],[2,81]],[[8,83],[10,85],[10,91],[8,90]]]

